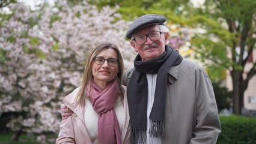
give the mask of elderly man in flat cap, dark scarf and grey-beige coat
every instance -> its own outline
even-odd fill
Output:
[[[209,76],[168,46],[166,18],[146,14],[126,37],[138,52],[124,74],[131,143],[216,143],[221,132]]]

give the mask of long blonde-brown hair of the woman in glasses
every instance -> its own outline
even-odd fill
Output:
[[[118,90],[120,91],[120,97],[123,98],[124,88],[121,85],[123,82],[123,73],[124,73],[123,58],[122,58],[122,55],[121,55],[119,49],[117,48],[117,46],[115,46],[115,44],[105,42],[105,43],[99,44],[95,49],[93,49],[93,51],[88,56],[87,64],[85,65],[85,70],[84,70],[84,77],[81,82],[81,88],[78,92],[78,95],[76,95],[76,102],[81,105],[85,104],[85,100],[88,97],[87,92],[86,92],[87,85],[90,85],[91,80],[93,79],[93,72],[92,72],[92,68],[91,68],[93,65],[93,62],[94,62],[93,59],[103,49],[113,49],[113,50],[115,50],[115,52],[117,52],[118,61],[119,61],[118,62],[119,73],[117,73],[116,79],[118,82]]]

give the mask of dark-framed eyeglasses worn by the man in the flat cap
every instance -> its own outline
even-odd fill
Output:
[[[161,38],[161,34],[163,32],[157,31],[157,32],[151,32],[150,34],[147,35],[139,35],[138,37],[133,38],[137,44],[144,44],[147,41],[147,37],[150,38],[151,41],[156,41]]]

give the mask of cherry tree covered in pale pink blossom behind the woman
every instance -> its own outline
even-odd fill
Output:
[[[26,133],[47,142],[44,135],[58,133],[59,106],[79,86],[87,55],[97,44],[117,44],[126,67],[132,65],[135,52],[125,39],[129,22],[118,7],[97,10],[87,3],[7,7],[0,23],[0,118],[8,115],[13,140]]]

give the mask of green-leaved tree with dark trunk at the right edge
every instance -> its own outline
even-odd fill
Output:
[[[197,47],[202,61],[210,61],[207,64],[212,70],[219,68],[230,72],[233,80],[233,110],[240,115],[243,95],[249,80],[256,74],[256,62],[248,61],[256,48],[256,1],[206,1],[204,7],[195,13],[199,14],[198,26],[207,31],[192,38],[192,47]],[[245,73],[248,63],[251,67]]]

